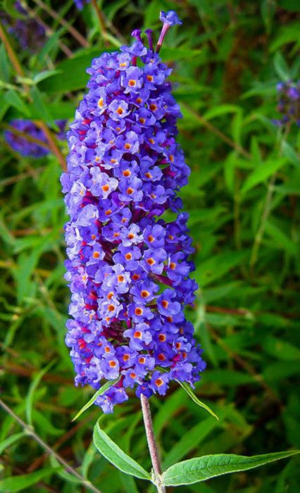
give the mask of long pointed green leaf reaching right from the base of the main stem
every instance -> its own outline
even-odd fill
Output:
[[[215,454],[204,457],[195,457],[189,461],[179,462],[163,473],[165,486],[192,485],[194,482],[206,481],[215,476],[228,473],[237,473],[263,466],[281,458],[291,457],[300,451],[275,452],[261,456],[237,456],[235,454]]]

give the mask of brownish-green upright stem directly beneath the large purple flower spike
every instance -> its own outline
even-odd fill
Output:
[[[142,405],[142,413],[143,413],[144,425],[146,430],[146,439],[148,442],[152,468],[154,473],[154,483],[156,485],[156,489],[158,493],[165,493],[165,487],[161,482],[161,461],[159,460],[158,448],[154,436],[149,399],[147,399],[143,394],[141,395],[141,405]]]

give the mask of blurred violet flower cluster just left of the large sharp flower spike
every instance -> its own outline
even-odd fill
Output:
[[[56,125],[58,125],[59,128],[59,132],[56,134],[56,137],[59,140],[65,139],[65,123],[66,120],[56,120]],[[35,123],[32,123],[31,120],[11,120],[10,125],[15,128],[15,130],[23,132],[29,137],[45,142],[45,144],[47,142],[47,138],[43,130],[37,127]],[[42,156],[49,154],[49,149],[44,146],[40,146],[35,142],[30,142],[30,140],[26,139],[25,136],[23,137],[22,135],[18,135],[14,133],[13,130],[6,130],[4,132],[4,137],[11,148],[21,154],[21,156],[41,158]]]

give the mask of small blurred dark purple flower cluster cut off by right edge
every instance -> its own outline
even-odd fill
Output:
[[[300,127],[300,81],[280,82],[277,84],[279,101],[277,111],[282,113],[282,118],[273,120],[278,127],[287,123],[296,123]]]

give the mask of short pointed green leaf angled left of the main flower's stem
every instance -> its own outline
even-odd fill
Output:
[[[93,437],[94,444],[100,454],[113,463],[116,468],[123,470],[123,473],[130,474],[136,478],[151,481],[151,475],[147,473],[142,466],[139,466],[133,458],[127,456],[127,454],[125,454],[125,452],[120,449],[120,447],[118,447],[103,430],[101,430],[99,423],[96,423],[94,426]]]

